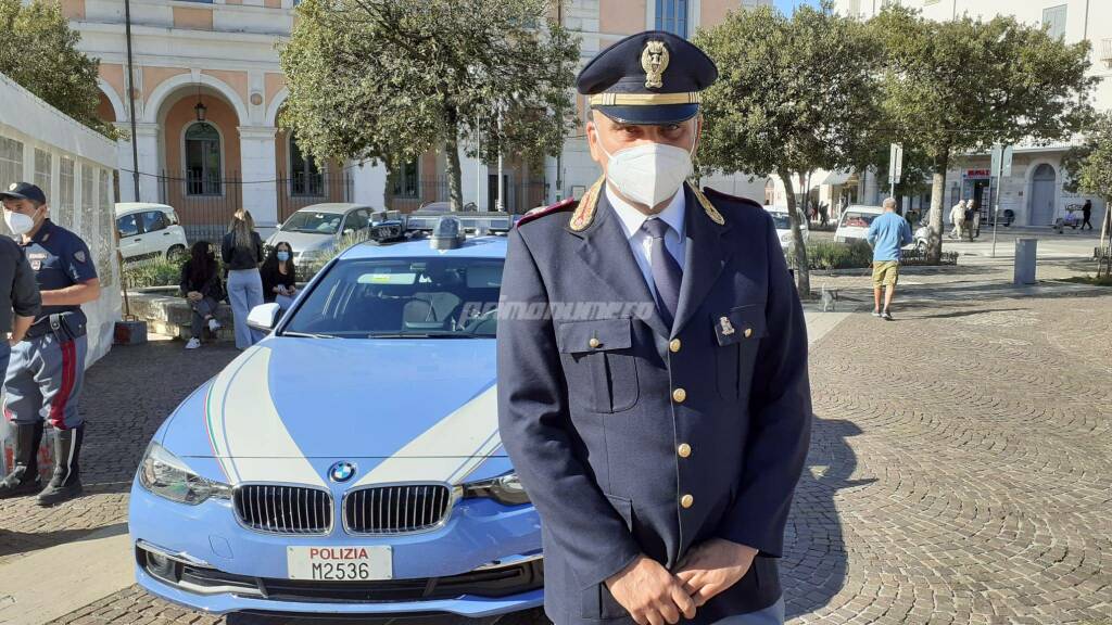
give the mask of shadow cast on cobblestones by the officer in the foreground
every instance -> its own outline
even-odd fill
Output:
[[[861,434],[853,421],[812,423],[811,452],[784,536],[781,563],[787,618],[808,614],[830,603],[845,585],[847,555],[838,517],[838,490],[873,484],[875,478],[851,479],[857,457],[846,442]]]

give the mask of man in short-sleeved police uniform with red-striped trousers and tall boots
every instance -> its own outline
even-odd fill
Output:
[[[4,221],[18,237],[34,270],[42,309],[24,340],[12,347],[4,377],[4,413],[17,427],[22,455],[38,449],[43,421],[54,428],[54,472],[46,487],[38,470],[4,480],[8,496],[39,492],[42,506],[59,504],[81,493],[79,458],[85,424],[78,397],[85,380],[88,349],[81,305],[100,297],[100,281],[89,247],[80,237],[53,224],[42,189],[13,183],[0,192]],[[17,465],[21,460],[17,460]],[[22,458],[27,465],[34,460]],[[12,476],[9,476],[12,477]]]

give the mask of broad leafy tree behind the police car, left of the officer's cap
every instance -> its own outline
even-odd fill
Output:
[[[460,139],[479,132],[479,156],[502,149],[536,161],[574,127],[578,43],[550,19],[552,2],[306,0],[279,52],[289,88],[281,122],[318,159],[395,169],[443,147],[459,210]]]

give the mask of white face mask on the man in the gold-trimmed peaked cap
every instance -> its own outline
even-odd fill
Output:
[[[643,143],[612,155],[602,141],[598,147],[609,159],[606,179],[623,196],[649,208],[674,196],[692,173],[692,153],[683,148]]]

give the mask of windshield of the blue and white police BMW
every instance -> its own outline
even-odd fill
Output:
[[[494,338],[502,259],[378,258],[337,262],[286,335]]]

